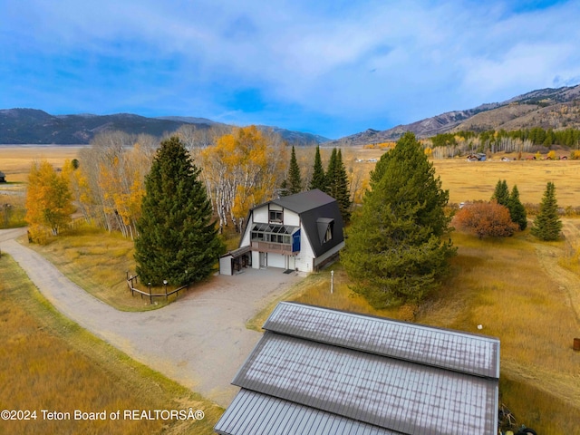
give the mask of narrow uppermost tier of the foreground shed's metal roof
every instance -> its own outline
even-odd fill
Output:
[[[381,317],[282,302],[264,329],[307,340],[499,378],[499,340]]]

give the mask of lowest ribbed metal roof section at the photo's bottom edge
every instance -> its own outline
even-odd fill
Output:
[[[220,435],[399,435],[362,421],[242,389],[214,427]]]

